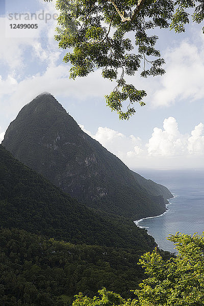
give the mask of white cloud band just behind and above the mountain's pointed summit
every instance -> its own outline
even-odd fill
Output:
[[[44,91],[54,96],[85,100],[89,97],[104,96],[107,93],[107,87],[112,87],[109,81],[101,77],[100,70],[90,73],[87,78],[69,80],[68,69],[69,67],[65,65],[51,65],[44,73],[37,73],[20,82],[17,82],[13,75],[6,80],[0,79],[0,89],[2,89],[0,98],[2,97],[3,100],[3,96],[8,95],[5,98],[7,103],[2,105],[2,111],[12,113],[13,117],[25,104]]]

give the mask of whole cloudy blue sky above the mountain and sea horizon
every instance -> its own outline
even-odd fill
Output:
[[[132,169],[203,167],[203,25],[190,24],[182,35],[157,31],[166,74],[130,78],[147,91],[146,106],[136,106],[137,113],[129,121],[120,121],[104,99],[114,84],[103,79],[100,71],[69,80],[69,66],[62,62],[65,52],[54,40],[55,2],[6,0],[6,12],[6,17],[0,17],[0,139],[20,109],[48,91],[82,129]],[[8,14],[18,12],[41,16],[43,12],[52,18],[35,21],[37,30],[10,29],[11,23],[33,22],[22,16],[20,21],[8,19]]]

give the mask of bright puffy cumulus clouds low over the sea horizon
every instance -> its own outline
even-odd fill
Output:
[[[176,119],[165,118],[163,129],[155,127],[147,143],[137,136],[125,136],[108,127],[100,126],[96,133],[92,134],[85,129],[84,125],[80,126],[84,132],[132,168],[149,165],[193,167],[201,162],[197,159],[198,156],[204,157],[204,125],[202,123],[194,127],[191,135],[181,134]]]

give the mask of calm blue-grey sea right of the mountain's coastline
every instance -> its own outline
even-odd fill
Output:
[[[169,234],[202,234],[204,231],[204,169],[135,170],[154,182],[166,186],[175,196],[169,200],[168,210],[156,218],[138,223],[155,238],[163,250],[175,252]]]

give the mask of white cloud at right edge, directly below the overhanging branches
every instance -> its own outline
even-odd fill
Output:
[[[181,99],[194,101],[204,98],[203,42],[198,49],[196,45],[183,41],[166,52],[166,74],[158,79],[160,85],[152,99],[153,106],[169,106]]]

